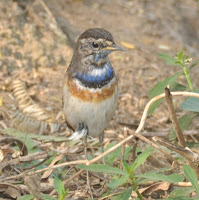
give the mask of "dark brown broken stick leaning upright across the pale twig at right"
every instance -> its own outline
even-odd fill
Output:
[[[185,142],[182,130],[180,128],[180,125],[178,123],[178,119],[176,117],[176,113],[175,113],[175,109],[174,109],[173,101],[172,101],[172,95],[170,93],[169,88],[167,88],[167,87],[165,88],[164,92],[165,92],[165,99],[166,99],[167,106],[168,106],[168,109],[169,109],[171,121],[173,123],[173,126],[174,126],[174,129],[175,129],[179,144],[180,144],[181,147],[185,148],[186,147],[186,142]]]

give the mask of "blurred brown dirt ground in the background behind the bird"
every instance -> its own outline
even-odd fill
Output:
[[[34,101],[64,123],[63,76],[74,44],[86,29],[102,27],[127,49],[110,55],[119,79],[119,102],[105,137],[118,140],[125,126],[132,130],[138,126],[149,90],[179,71],[158,54],[174,56],[184,51],[199,58],[198,12],[196,0],[0,0],[0,100],[13,103],[10,86],[20,79]],[[194,87],[199,86],[198,73],[198,67],[194,68]],[[181,115],[179,101],[175,100],[176,110]],[[3,117],[0,120],[10,127]],[[163,104],[149,117],[145,131],[167,132],[170,128]]]

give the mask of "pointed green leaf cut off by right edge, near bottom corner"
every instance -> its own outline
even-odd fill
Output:
[[[199,194],[199,185],[197,174],[195,171],[188,165],[183,165],[183,170],[186,178],[192,183],[193,187],[195,188],[196,192]]]

